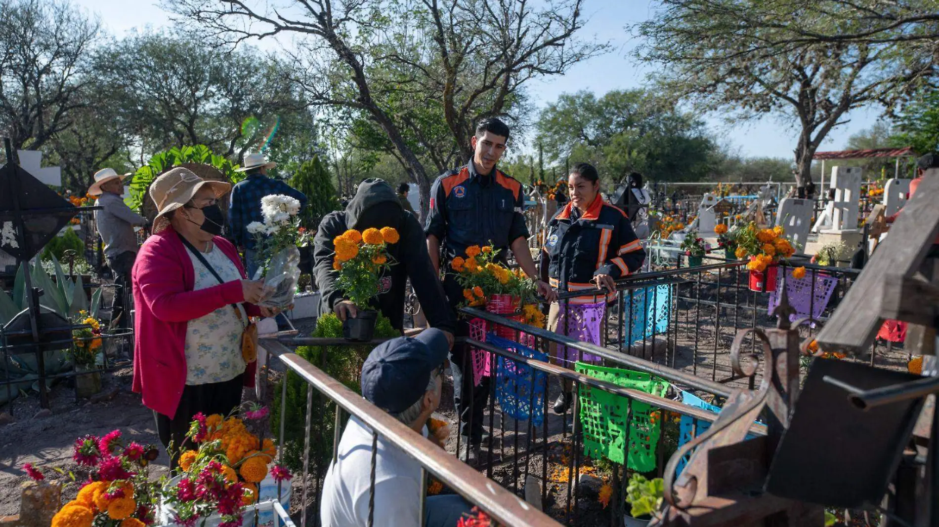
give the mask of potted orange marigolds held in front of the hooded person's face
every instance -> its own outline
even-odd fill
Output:
[[[371,340],[375,334],[378,313],[370,301],[379,293],[379,280],[393,264],[388,246],[398,243],[400,235],[392,227],[370,228],[362,232],[349,229],[332,239],[335,256],[336,284],[346,298],[355,304],[355,317],[343,321],[343,337],[349,340]]]

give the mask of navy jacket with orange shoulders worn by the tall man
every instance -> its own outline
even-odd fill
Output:
[[[491,243],[504,258],[512,242],[529,236],[523,200],[521,183],[498,169],[483,176],[470,161],[441,174],[430,188],[430,211],[423,229],[443,242],[441,267],[474,245]]]

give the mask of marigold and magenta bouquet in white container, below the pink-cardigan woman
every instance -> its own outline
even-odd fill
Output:
[[[253,421],[267,414],[256,405],[228,416],[195,414],[187,437],[197,447],[179,453],[178,473],[161,480],[162,524],[240,525],[246,507],[265,497],[265,486],[291,477],[284,467],[271,466],[273,441],[251,431],[261,429]],[[289,486],[285,490],[281,502],[289,504]]]

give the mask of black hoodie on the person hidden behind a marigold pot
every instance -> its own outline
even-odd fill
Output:
[[[427,322],[431,327],[453,333],[454,313],[434,274],[423,228],[417,218],[401,207],[394,188],[382,179],[362,181],[346,210],[331,212],[319,223],[313,258],[323,310],[332,311],[336,303],[344,299],[336,285],[338,272],[332,269],[335,256],[332,239],[348,229],[362,231],[369,227],[394,227],[401,235],[398,243],[389,246],[389,253],[397,264],[381,278],[381,293],[372,299],[372,306],[388,317],[395,329],[403,330],[405,282],[409,278]]]

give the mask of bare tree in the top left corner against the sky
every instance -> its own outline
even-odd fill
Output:
[[[49,0],[0,0],[0,12],[0,130],[15,148],[38,149],[83,105],[100,23]]]

